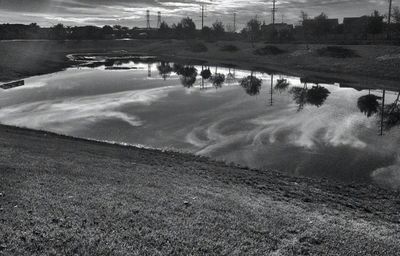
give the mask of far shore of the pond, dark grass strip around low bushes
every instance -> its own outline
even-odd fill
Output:
[[[359,82],[377,86],[385,83],[391,87],[399,87],[397,81],[400,79],[398,65],[400,58],[379,62],[377,56],[400,54],[398,46],[381,46],[382,50],[374,56],[367,53],[380,49],[380,46],[349,46],[356,51],[362,51],[363,56],[358,58],[331,58],[314,56],[314,51],[323,45],[313,45],[315,49],[310,50],[307,55],[293,56],[302,51],[303,45],[276,45],[287,51],[282,55],[257,56],[252,53],[254,48],[246,42],[217,42],[205,43],[209,50],[204,53],[195,53],[187,50],[188,42],[178,40],[133,40],[133,41],[20,41],[3,42],[0,44],[0,53],[6,54],[4,60],[0,61],[0,81],[8,82],[24,79],[34,75],[43,75],[62,71],[72,67],[78,62],[72,61],[67,55],[83,54],[114,54],[126,55],[154,55],[168,60],[193,59],[205,61],[210,65],[235,65],[242,69],[255,71],[272,71],[292,76],[311,76],[325,79],[336,79],[340,81]],[[226,44],[235,44],[241,50],[233,53],[221,52],[219,47]],[[97,44],[97,45],[96,45]],[[21,48],[37,50],[35,54],[18,52]],[[93,46],[94,45],[94,46]],[[256,48],[264,44],[256,44]],[[343,46],[347,47],[347,46]],[[167,49],[168,48],[168,49]],[[367,52],[367,53],[364,53]],[[8,56],[7,56],[8,55]],[[365,56],[364,56],[365,55]],[[6,60],[7,59],[7,60]],[[21,60],[26,61],[22,67]],[[7,63],[10,62],[10,63]],[[33,63],[31,63],[33,62]],[[13,64],[14,63],[14,64]],[[374,72],[371,72],[373,70]],[[376,85],[378,84],[378,85]]]

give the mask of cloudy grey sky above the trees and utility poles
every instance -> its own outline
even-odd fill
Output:
[[[393,1],[394,6],[400,5],[400,0]],[[239,28],[256,15],[261,21],[271,21],[272,0],[0,0],[0,23],[142,27],[149,9],[152,26],[156,25],[158,11],[169,24],[189,16],[200,26],[202,2],[207,4],[206,25],[216,19],[233,23],[234,12]],[[370,14],[375,9],[387,13],[388,0],[277,0],[277,20],[297,23],[301,10],[310,16],[325,12],[341,19]]]

